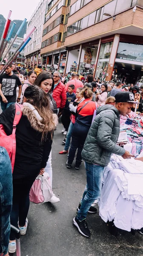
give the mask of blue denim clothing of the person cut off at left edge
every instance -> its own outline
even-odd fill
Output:
[[[12,208],[11,161],[6,149],[0,147],[0,254],[6,255],[9,246],[10,213]]]

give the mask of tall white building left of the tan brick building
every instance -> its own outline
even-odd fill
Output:
[[[30,66],[41,64],[40,49],[42,44],[43,23],[45,21],[45,13],[48,0],[41,0],[27,23],[26,35],[36,27],[31,35],[31,40],[25,47],[24,55],[26,64]]]

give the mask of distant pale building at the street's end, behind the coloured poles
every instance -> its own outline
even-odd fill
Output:
[[[14,38],[11,38],[10,44],[13,41]],[[8,59],[11,57],[11,55],[17,50],[17,48],[20,46],[20,44],[23,42],[23,38],[17,37],[14,41],[14,43],[11,46],[11,49],[9,51]],[[16,64],[25,63],[25,57],[24,57],[24,49],[20,52],[20,54],[17,56],[17,58],[14,60]]]

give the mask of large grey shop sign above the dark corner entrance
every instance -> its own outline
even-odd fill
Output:
[[[143,62],[143,45],[119,43],[116,58]]]

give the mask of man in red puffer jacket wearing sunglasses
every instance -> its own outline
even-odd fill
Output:
[[[52,96],[57,103],[58,116],[60,116],[66,105],[66,87],[60,80],[60,73],[58,71],[54,72],[53,79],[54,90]]]

